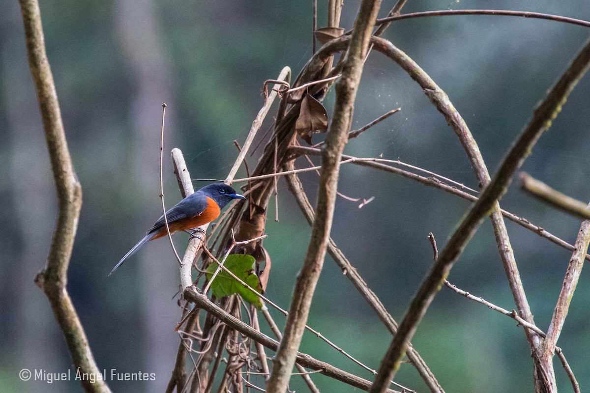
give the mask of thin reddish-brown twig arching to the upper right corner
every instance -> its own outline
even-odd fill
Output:
[[[440,11],[422,11],[411,12],[409,14],[401,14],[394,16],[387,16],[386,18],[377,19],[376,25],[388,24],[393,21],[400,21],[401,19],[422,18],[424,16],[448,16],[448,15],[503,15],[503,16],[520,16],[522,18],[536,18],[548,19],[549,21],[564,22],[584,27],[590,27],[589,21],[581,19],[568,18],[566,16],[542,14],[540,12],[529,11],[507,11],[504,9],[442,9]]]

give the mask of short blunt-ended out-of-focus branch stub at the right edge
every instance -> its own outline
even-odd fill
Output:
[[[590,220],[590,209],[584,202],[552,189],[547,184],[534,179],[525,172],[520,173],[519,180],[520,189],[525,191],[525,193],[572,216],[581,218],[582,220]]]

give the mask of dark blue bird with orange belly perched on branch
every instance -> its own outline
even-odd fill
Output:
[[[208,184],[202,189],[197,190],[185,199],[175,204],[166,212],[168,228],[170,233],[178,230],[188,231],[189,229],[207,224],[219,217],[221,209],[234,199],[244,199],[244,196],[235,192],[230,186],[224,183]],[[109,276],[113,274],[117,267],[123,265],[123,262],[135,254],[143,245],[150,240],[158,239],[168,235],[166,231],[166,222],[164,216],[148,230],[148,234],[139,240],[132,249],[113,267]]]

